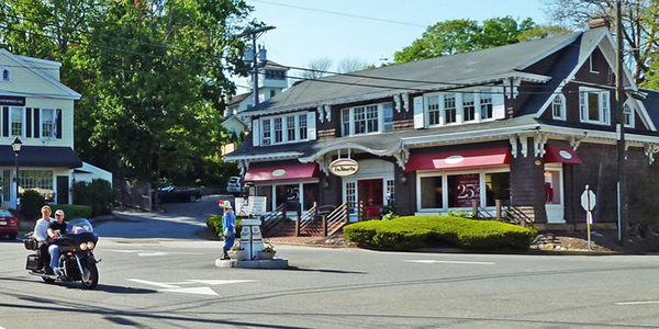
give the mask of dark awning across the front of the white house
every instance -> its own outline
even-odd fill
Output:
[[[0,166],[14,166],[15,155],[10,145],[0,145]],[[23,145],[19,154],[20,167],[80,168],[82,161],[70,147]]]

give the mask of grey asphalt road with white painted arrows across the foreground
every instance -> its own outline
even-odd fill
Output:
[[[658,257],[276,246],[291,269],[219,269],[196,238],[215,204],[98,226],[96,291],[43,283],[0,241],[0,328],[659,328]]]

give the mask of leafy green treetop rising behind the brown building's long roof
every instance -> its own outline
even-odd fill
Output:
[[[406,63],[514,44],[534,26],[530,19],[516,21],[511,16],[485,20],[482,24],[472,20],[443,21],[428,26],[421,38],[395,52],[393,58]]]

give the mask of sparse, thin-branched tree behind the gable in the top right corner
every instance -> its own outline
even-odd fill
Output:
[[[637,83],[644,84],[659,52],[658,0],[626,0],[623,5],[625,61]],[[582,30],[592,18],[615,23],[616,0],[550,0],[548,12],[563,26]]]

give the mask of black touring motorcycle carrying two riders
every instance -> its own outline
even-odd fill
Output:
[[[80,281],[82,287],[93,290],[99,284],[99,270],[97,259],[93,256],[93,249],[97,247],[99,238],[93,234],[93,227],[89,220],[79,218],[66,223],[66,234],[60,238],[54,239],[53,243],[59,246],[58,266],[63,270],[60,275],[47,273],[45,266],[42,266],[42,258],[45,257],[38,252],[38,243],[27,234],[23,240],[25,249],[37,251],[29,254],[25,269],[30,274],[41,276],[46,283],[55,281]],[[46,264],[47,265],[47,264]]]

